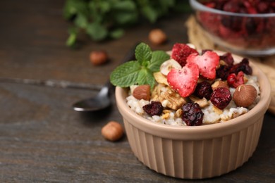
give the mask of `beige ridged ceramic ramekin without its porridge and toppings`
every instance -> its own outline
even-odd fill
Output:
[[[138,160],[156,172],[184,179],[215,177],[243,165],[257,147],[271,99],[266,75],[250,65],[260,84],[259,103],[238,118],[212,125],[176,127],[146,120],[128,107],[128,89],[116,87],[116,105]]]

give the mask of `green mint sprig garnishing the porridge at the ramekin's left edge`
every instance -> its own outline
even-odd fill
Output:
[[[153,73],[159,71],[161,63],[170,56],[165,51],[152,51],[147,44],[140,43],[135,49],[135,58],[137,61],[123,63],[111,72],[111,84],[118,87],[149,84],[152,89],[156,83]]]

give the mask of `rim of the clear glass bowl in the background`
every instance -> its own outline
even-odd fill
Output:
[[[257,17],[257,18],[269,18],[269,17],[275,17],[275,13],[258,13],[258,14],[248,14],[248,13],[233,13],[228,11],[221,11],[214,8],[209,8],[207,6],[204,6],[203,4],[200,4],[197,0],[189,0],[190,5],[195,10],[200,11],[209,11],[212,13],[219,13],[221,15],[233,15],[233,16],[240,16],[240,17]]]

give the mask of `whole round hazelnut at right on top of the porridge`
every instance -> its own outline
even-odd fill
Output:
[[[237,106],[248,107],[257,97],[257,90],[250,84],[240,84],[234,94],[233,101]]]

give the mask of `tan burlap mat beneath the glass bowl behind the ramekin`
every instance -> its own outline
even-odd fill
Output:
[[[207,37],[200,25],[196,23],[195,17],[192,15],[186,22],[188,28],[189,42],[194,44],[197,49],[217,49],[223,50],[221,47],[214,44],[214,42]],[[250,58],[256,63],[259,68],[269,77],[271,83],[271,103],[269,111],[275,114],[275,55],[264,58]]]

